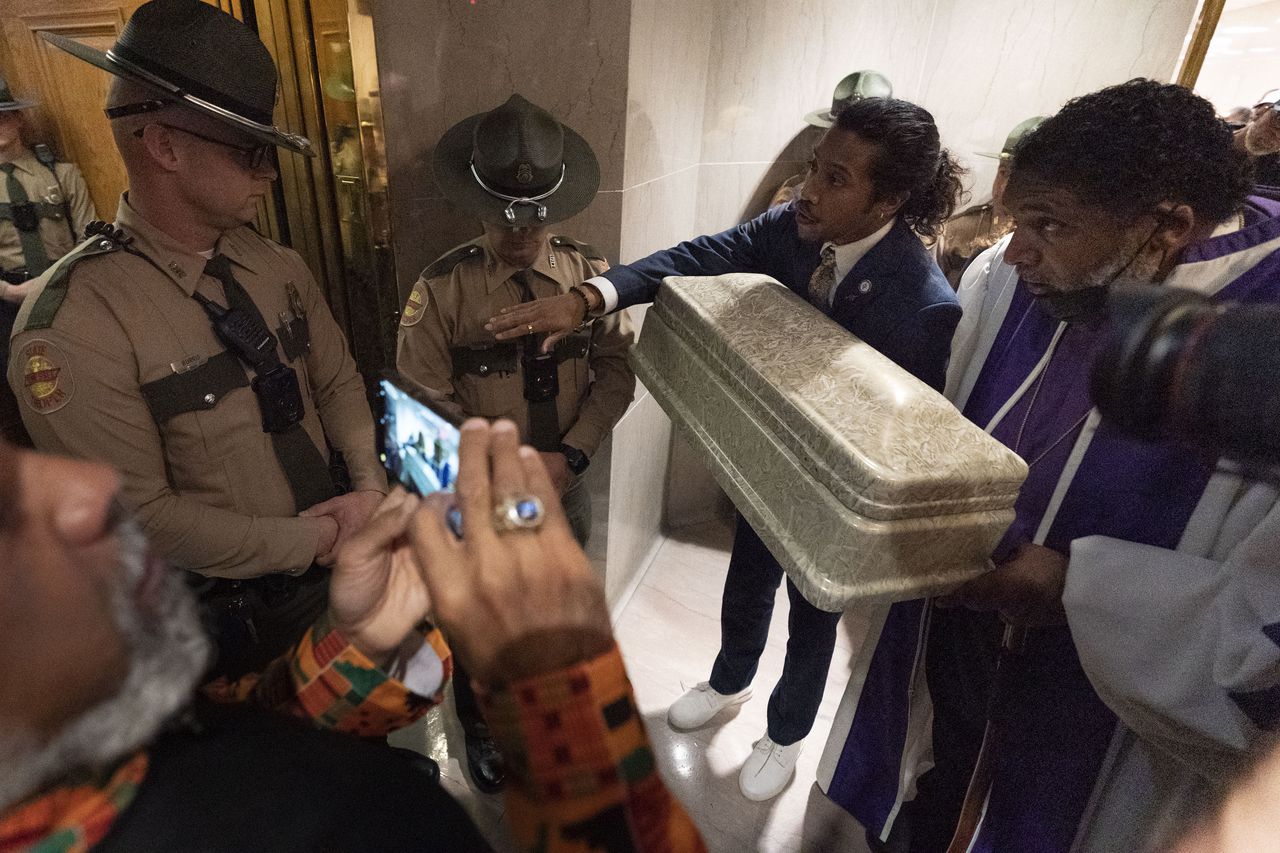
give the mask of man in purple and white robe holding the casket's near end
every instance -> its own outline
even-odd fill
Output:
[[[819,784],[874,849],[1140,849],[1280,722],[1275,489],[1089,400],[1110,288],[1280,301],[1280,205],[1249,186],[1212,106],[1152,81],[1014,154],[947,394],[1029,475],[995,569],[888,608],[837,713]]]

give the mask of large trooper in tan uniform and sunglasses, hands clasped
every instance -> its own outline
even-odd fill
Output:
[[[198,38],[177,37],[177,22]],[[270,126],[266,47],[198,0],[143,5],[110,54],[44,36],[116,76],[106,113],[131,190],[114,228],[91,225],[36,282],[9,384],[37,448],[122,471],[151,546],[207,581],[219,667],[236,674],[301,637],[326,594],[312,566],[387,489],[364,383],[320,289],[296,252],[244,224],[276,177],[276,146],[308,142]],[[200,97],[163,85],[174,79]],[[343,496],[330,447],[349,470]]]

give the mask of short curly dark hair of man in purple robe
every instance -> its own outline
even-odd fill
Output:
[[[1212,104],[1181,86],[1137,78],[1068,101],[1027,134],[1014,150],[1009,186],[1028,179],[1125,220],[1172,201],[1221,222],[1240,209],[1253,172]]]

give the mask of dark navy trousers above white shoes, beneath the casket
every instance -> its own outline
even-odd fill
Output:
[[[769,637],[773,597],[782,575],[782,566],[739,516],[721,602],[721,652],[710,678],[717,693],[737,693],[751,684]],[[768,715],[769,739],[780,745],[801,740],[813,729],[841,616],[810,605],[791,580],[787,597],[787,657],[769,695]]]

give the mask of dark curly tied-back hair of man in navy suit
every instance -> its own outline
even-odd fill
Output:
[[[905,195],[902,220],[922,237],[937,237],[960,204],[964,168],[942,147],[933,115],[896,97],[864,97],[836,113],[836,127],[876,146],[876,199]]]

